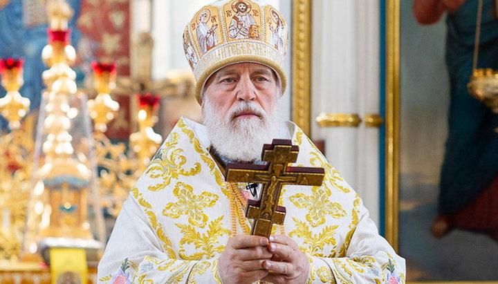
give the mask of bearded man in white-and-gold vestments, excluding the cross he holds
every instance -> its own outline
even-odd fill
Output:
[[[225,15],[234,1],[205,8]],[[262,17],[271,17],[273,7],[247,2],[261,23],[270,23]],[[191,26],[185,38],[196,44]],[[285,50],[269,38],[223,40],[199,53],[193,68],[204,125],[179,120],[131,189],[99,264],[99,280],[403,283],[405,261],[378,235],[360,197],[295,124],[281,121]],[[237,49],[241,43],[244,48]],[[275,225],[266,238],[249,234],[243,214],[261,186],[250,191],[225,182],[223,172],[228,162],[262,163],[261,148],[273,138],[297,144],[295,164],[324,167],[325,180],[317,187],[286,185],[279,198],[287,210],[284,225]]]

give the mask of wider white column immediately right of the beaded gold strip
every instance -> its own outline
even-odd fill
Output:
[[[355,1],[315,0],[312,15],[312,118],[320,113],[358,113],[356,84]],[[325,153],[341,175],[356,187],[356,140],[352,127],[320,128],[313,138],[324,139]]]

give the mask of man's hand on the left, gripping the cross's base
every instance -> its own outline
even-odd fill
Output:
[[[218,260],[221,281],[229,283],[252,283],[268,275],[263,267],[272,253],[267,249],[268,238],[241,235],[228,240],[225,252]]]

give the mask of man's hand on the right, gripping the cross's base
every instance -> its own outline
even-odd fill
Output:
[[[306,283],[310,264],[292,238],[270,236],[268,252],[271,252],[273,257],[264,261],[263,267],[270,270],[270,274],[261,280],[272,283]]]

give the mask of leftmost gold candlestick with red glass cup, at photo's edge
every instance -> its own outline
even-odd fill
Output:
[[[0,261],[19,258],[26,220],[33,140],[24,130],[30,127],[21,128],[30,105],[30,100],[19,93],[24,84],[22,65],[21,59],[0,59],[1,85],[7,91],[0,99],[0,114],[11,129],[0,136]]]

